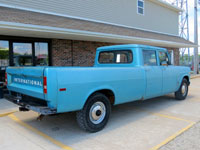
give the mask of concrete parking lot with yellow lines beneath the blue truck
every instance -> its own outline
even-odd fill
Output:
[[[171,94],[113,107],[106,128],[98,133],[82,131],[75,113],[47,116],[42,121],[37,117],[32,111],[18,112],[15,105],[0,99],[0,149],[183,150],[186,138],[194,141],[200,130],[200,78],[191,80],[184,101]],[[186,149],[200,149],[190,143]]]

